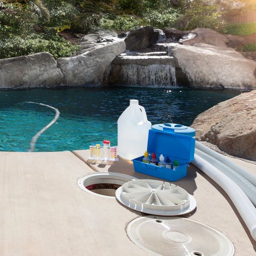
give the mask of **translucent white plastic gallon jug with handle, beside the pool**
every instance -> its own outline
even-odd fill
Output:
[[[131,99],[130,106],[117,121],[119,156],[128,160],[142,156],[147,149],[150,129],[151,122],[147,119],[145,108],[139,105],[137,99]]]

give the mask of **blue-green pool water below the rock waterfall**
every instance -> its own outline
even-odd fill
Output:
[[[0,151],[27,151],[32,137],[55,116],[55,111],[28,101],[51,105],[58,121],[39,137],[35,151],[87,149],[111,140],[117,144],[117,119],[138,99],[153,124],[191,125],[195,117],[240,91],[163,88],[67,88],[0,90]]]

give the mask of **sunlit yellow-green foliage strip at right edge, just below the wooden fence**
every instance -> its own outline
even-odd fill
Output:
[[[256,23],[230,24],[223,32],[231,35],[253,35],[256,34]]]

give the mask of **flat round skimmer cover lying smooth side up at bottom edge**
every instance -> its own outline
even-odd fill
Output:
[[[127,226],[131,241],[158,256],[232,256],[231,241],[212,227],[181,217],[146,216]]]

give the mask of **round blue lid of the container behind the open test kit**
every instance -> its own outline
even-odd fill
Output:
[[[166,124],[152,125],[151,129],[195,137],[195,129],[185,125],[166,123]]]

